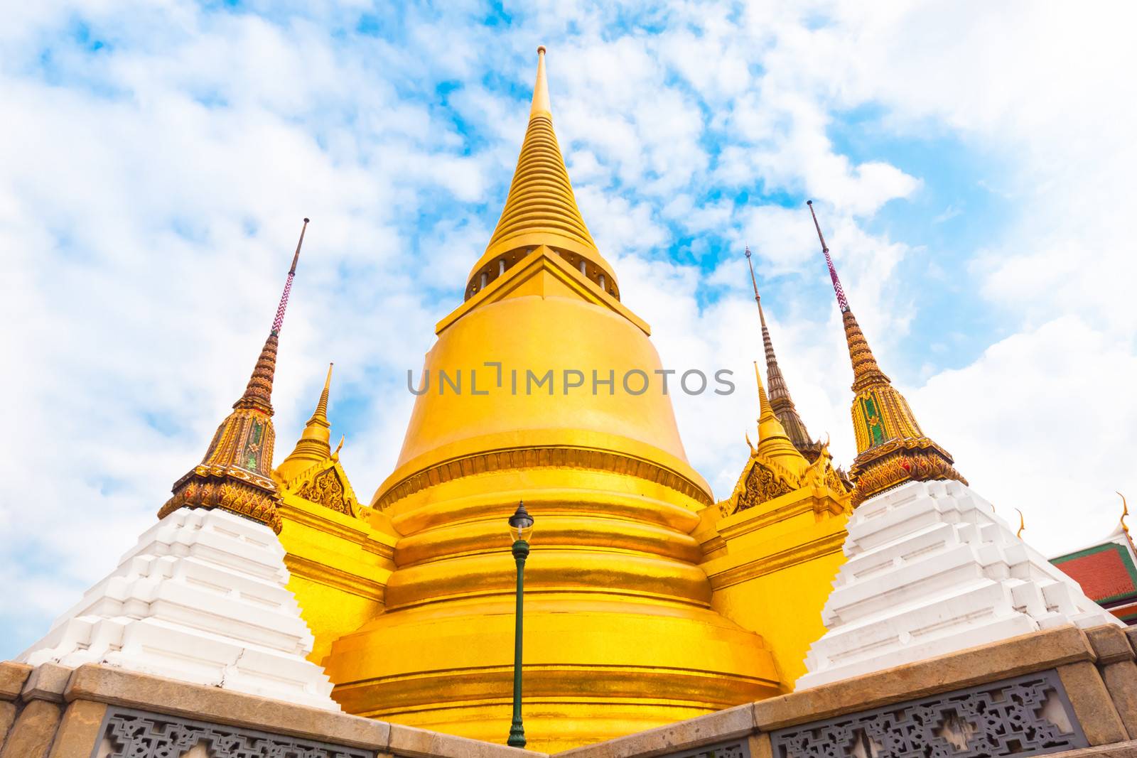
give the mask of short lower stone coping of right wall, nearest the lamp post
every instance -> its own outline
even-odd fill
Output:
[[[555,758],[646,758],[723,742],[750,734],[754,728],[754,706],[746,703],[628,736],[573,748],[556,753]]]

